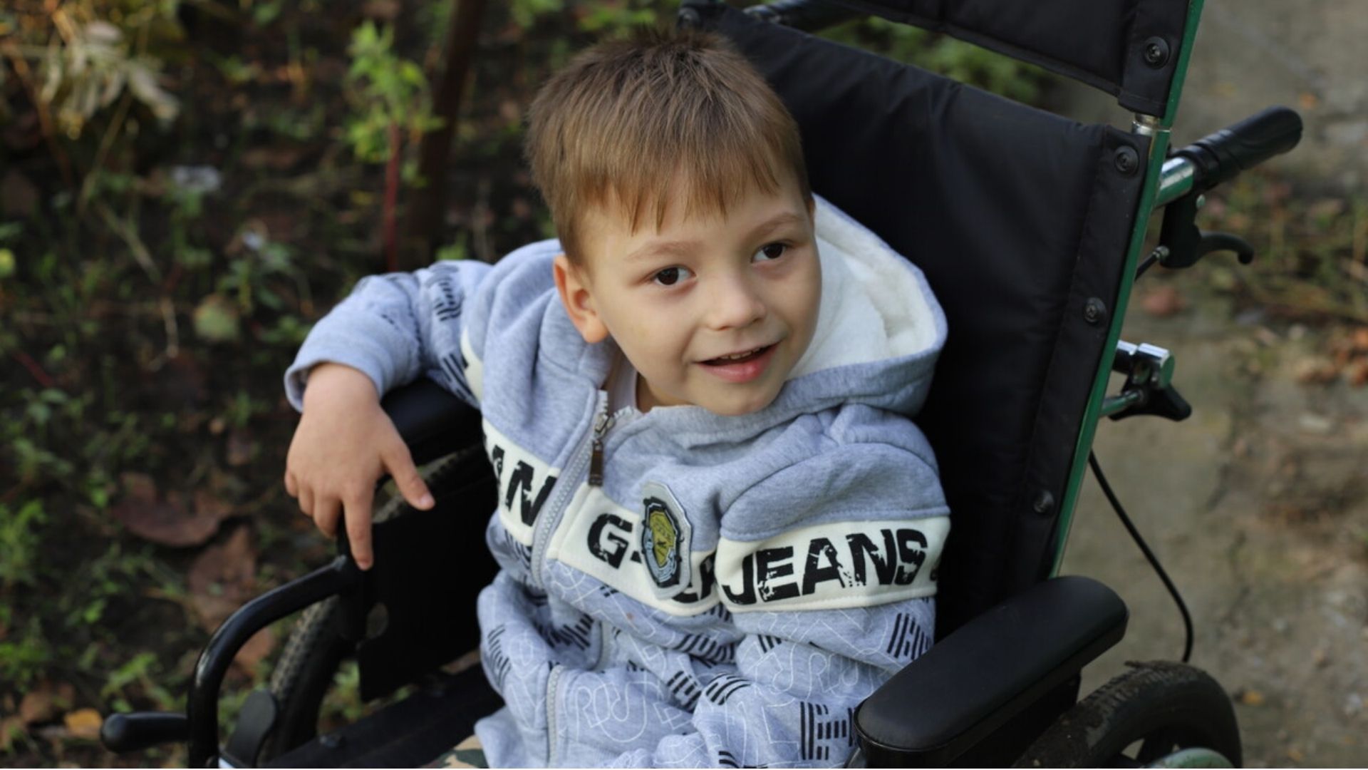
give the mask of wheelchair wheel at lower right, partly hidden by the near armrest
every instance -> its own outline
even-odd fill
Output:
[[[1179,751],[1187,754],[1171,766],[1212,767],[1220,765],[1207,762],[1223,758],[1239,767],[1235,711],[1216,680],[1183,663],[1127,666],[1064,712],[1016,767],[1141,767]]]

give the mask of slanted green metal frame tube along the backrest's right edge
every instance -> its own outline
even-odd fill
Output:
[[[1064,544],[1068,541],[1068,530],[1074,521],[1074,507],[1078,503],[1078,493],[1083,484],[1083,474],[1088,470],[1088,454],[1093,447],[1093,436],[1097,433],[1097,422],[1103,417],[1103,401],[1107,397],[1107,382],[1111,378],[1112,356],[1107,351],[1115,351],[1120,340],[1120,327],[1126,321],[1126,306],[1130,301],[1130,292],[1135,282],[1135,267],[1140,263],[1140,252],[1145,245],[1145,232],[1149,229],[1149,216],[1164,204],[1179,197],[1192,186],[1192,178],[1181,171],[1181,166],[1170,166],[1166,175],[1166,160],[1168,155],[1168,134],[1178,115],[1178,100],[1182,96],[1183,81],[1187,77],[1187,62],[1192,56],[1193,38],[1197,37],[1197,22],[1201,19],[1204,0],[1189,0],[1187,22],[1183,25],[1183,44],[1179,48],[1178,60],[1174,63],[1174,79],[1168,88],[1168,104],[1161,116],[1149,116],[1142,122],[1137,116],[1137,130],[1149,134],[1149,159],[1145,167],[1145,184],[1140,193],[1140,204],[1135,211],[1135,226],[1130,233],[1130,247],[1126,252],[1126,264],[1122,267],[1120,292],[1116,296],[1116,307],[1112,311],[1111,327],[1107,330],[1107,343],[1103,347],[1103,358],[1093,375],[1093,389],[1088,399],[1088,410],[1083,412],[1083,425],[1078,432],[1078,444],[1074,447],[1074,463],[1068,474],[1068,485],[1064,488],[1064,500],[1059,507],[1059,521],[1055,525],[1055,563],[1049,575],[1059,574],[1059,567],[1064,560]]]

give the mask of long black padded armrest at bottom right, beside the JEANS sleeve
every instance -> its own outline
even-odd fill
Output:
[[[1116,644],[1126,619],[1120,597],[1086,577],[1048,580],[1012,596],[860,704],[855,728],[866,762],[951,765]]]

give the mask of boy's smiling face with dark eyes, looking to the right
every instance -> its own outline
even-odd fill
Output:
[[[631,232],[614,210],[586,214],[584,264],[561,255],[555,281],[584,340],[611,336],[642,375],[637,403],[722,415],[769,406],[807,351],[822,274],[813,210],[798,185],[748,192],[725,215]]]

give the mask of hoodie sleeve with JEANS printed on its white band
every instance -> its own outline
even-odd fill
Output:
[[[934,638],[949,510],[929,445],[906,429],[892,444],[843,444],[784,467],[732,503],[715,580],[743,634],[736,670],[696,671],[688,726],[616,766],[815,767],[850,756],[860,701]]]

